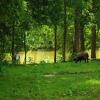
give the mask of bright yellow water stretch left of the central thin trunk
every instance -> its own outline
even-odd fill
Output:
[[[19,52],[20,62],[24,62],[24,52]],[[54,59],[53,51],[28,51],[27,52],[27,63],[39,63],[41,61],[52,63]]]

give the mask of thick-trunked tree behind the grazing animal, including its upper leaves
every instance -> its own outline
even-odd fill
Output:
[[[90,4],[86,0],[73,1],[75,34],[73,40],[73,54],[85,51],[85,26],[89,23]]]

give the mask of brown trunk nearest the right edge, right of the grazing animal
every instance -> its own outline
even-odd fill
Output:
[[[96,25],[92,26],[91,58],[96,59]]]

